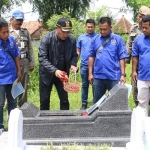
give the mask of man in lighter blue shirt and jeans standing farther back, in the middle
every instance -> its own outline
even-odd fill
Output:
[[[82,107],[81,109],[86,109],[88,104],[88,54],[89,48],[91,45],[91,40],[96,35],[95,30],[95,21],[93,19],[86,20],[86,33],[78,37],[77,42],[77,53],[78,57],[81,58],[80,65],[80,74],[82,79]]]

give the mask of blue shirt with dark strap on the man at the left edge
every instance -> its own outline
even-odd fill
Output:
[[[12,57],[1,46],[0,39],[0,85],[12,84],[17,79],[17,68]],[[20,50],[12,36],[9,36],[5,46],[13,54],[14,57],[19,56]]]

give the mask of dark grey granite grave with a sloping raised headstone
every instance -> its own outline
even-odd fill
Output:
[[[40,111],[31,103],[21,107],[23,139],[29,145],[109,144],[125,147],[130,141],[131,113],[128,108],[128,89],[117,84],[98,108],[88,116],[85,111]]]

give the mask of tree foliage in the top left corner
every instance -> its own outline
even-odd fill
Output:
[[[2,13],[10,11],[13,5],[20,5],[21,2],[25,1],[26,0],[0,0],[0,18]]]

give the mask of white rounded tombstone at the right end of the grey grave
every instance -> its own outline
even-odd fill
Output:
[[[130,142],[126,144],[127,150],[145,150],[144,118],[145,113],[140,107],[133,109],[131,117]]]

